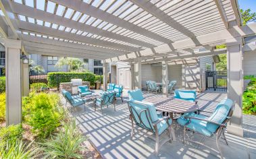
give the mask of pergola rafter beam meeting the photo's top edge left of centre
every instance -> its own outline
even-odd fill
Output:
[[[106,11],[103,11],[101,9],[98,9],[97,7],[94,7],[93,5],[89,5],[87,3],[84,3],[80,0],[52,0],[55,3],[64,5],[66,7],[70,7],[76,11],[80,11],[81,13],[84,13],[86,15],[91,15],[95,18],[98,18],[100,20],[103,20],[105,22],[109,22],[111,24],[114,24],[116,26],[120,26],[122,28],[126,28],[128,30],[131,30],[132,32],[136,32],[138,34],[141,34],[143,36],[147,36],[149,38],[153,38],[155,40],[158,40],[160,42],[164,42],[166,44],[170,43],[171,40],[168,38],[164,38],[163,36],[159,36],[158,34],[155,34],[153,32],[150,32],[149,30],[146,30],[144,28],[141,28],[139,26],[136,26],[135,24],[132,24],[130,22],[127,22],[125,20],[122,20],[121,18],[116,17],[115,15],[112,15],[111,13],[107,13]]]

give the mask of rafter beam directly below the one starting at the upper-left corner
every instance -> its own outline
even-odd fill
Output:
[[[72,34],[70,32],[65,32],[65,31],[60,31],[60,30],[56,30],[53,28],[48,28],[46,26],[40,26],[40,25],[36,25],[36,24],[32,24],[29,22],[24,22],[24,21],[18,21],[18,27],[21,30],[26,30],[28,32],[36,32],[39,34],[45,34],[45,35],[49,35],[49,36],[56,36],[59,38],[64,38],[64,39],[69,39],[69,40],[74,40],[74,41],[78,41],[78,42],[84,42],[86,44],[95,44],[98,46],[105,46],[108,48],[113,48],[113,49],[121,49],[121,50],[126,50],[126,51],[140,51],[141,49],[133,47],[133,46],[128,46],[128,45],[124,45],[124,44],[116,44],[113,42],[108,42],[105,40],[98,40],[95,38],[88,38],[86,36],[82,36],[82,35],[78,35],[78,34]]]

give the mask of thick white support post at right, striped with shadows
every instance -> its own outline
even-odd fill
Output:
[[[242,90],[243,90],[243,69],[242,69],[242,39],[235,38],[227,42],[227,68],[228,68],[228,98],[236,101],[234,113],[228,133],[243,136],[242,130]]]

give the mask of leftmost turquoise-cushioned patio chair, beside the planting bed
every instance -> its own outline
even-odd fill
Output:
[[[65,97],[66,99],[66,105],[67,103],[69,102],[70,105],[72,106],[73,108],[73,111],[74,111],[74,108],[76,106],[80,106],[80,105],[84,105],[84,111],[85,111],[85,101],[83,98],[81,98],[80,96],[72,96],[70,94],[70,92],[66,91],[66,90],[61,90],[61,93],[62,95]]]

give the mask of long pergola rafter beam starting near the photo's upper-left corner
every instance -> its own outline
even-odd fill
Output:
[[[22,5],[20,3],[11,2],[11,9],[12,9],[12,11],[14,11],[14,13],[18,13],[20,15],[25,15],[30,18],[34,18],[36,20],[43,20],[45,22],[50,22],[53,24],[66,26],[69,28],[74,28],[76,30],[81,30],[83,32],[89,32],[92,34],[97,34],[99,36],[105,36],[107,38],[113,38],[116,40],[128,42],[131,44],[136,44],[139,46],[145,46],[148,48],[155,46],[153,44],[149,44],[149,43],[143,42],[141,40],[136,40],[136,39],[129,38],[126,36],[115,34],[113,32],[107,32],[105,30],[101,30],[99,28],[96,28],[96,27],[93,27],[93,26],[90,26],[87,24],[82,24],[80,22],[76,22],[74,20],[64,18],[59,15],[55,15],[53,13],[48,13],[46,11],[41,11],[39,9],[33,9],[32,7],[28,7],[28,6]]]

